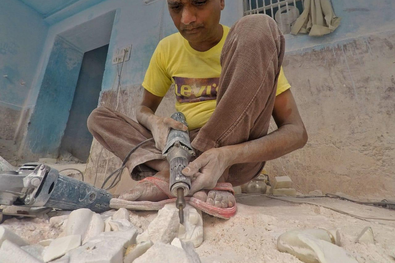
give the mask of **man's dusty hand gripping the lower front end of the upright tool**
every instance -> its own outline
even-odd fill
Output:
[[[193,195],[202,189],[213,189],[228,167],[227,160],[223,148],[212,148],[190,162],[182,171],[185,176],[195,178],[189,194]]]

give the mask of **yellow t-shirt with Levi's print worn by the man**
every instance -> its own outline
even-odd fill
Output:
[[[142,83],[159,97],[174,84],[175,109],[183,112],[189,130],[203,127],[217,105],[220,56],[229,32],[229,27],[222,27],[221,41],[204,52],[193,49],[180,33],[165,37],[156,47]],[[290,87],[281,68],[276,96]]]

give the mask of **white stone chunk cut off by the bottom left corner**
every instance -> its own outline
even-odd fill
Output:
[[[9,240],[4,240],[0,248],[0,263],[42,263],[18,245]]]

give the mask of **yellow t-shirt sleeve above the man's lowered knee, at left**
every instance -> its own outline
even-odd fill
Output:
[[[142,86],[146,90],[158,97],[164,97],[172,83],[171,77],[166,71],[165,63],[164,50],[161,42],[159,42],[152,55],[144,81],[142,82]]]

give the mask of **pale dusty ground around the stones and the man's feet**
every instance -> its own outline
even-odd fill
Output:
[[[1,155],[0,155],[1,156]],[[78,168],[85,164],[70,162],[48,163],[53,168]],[[75,173],[73,171],[64,174]],[[78,174],[75,174],[78,178]],[[395,211],[374,206],[355,204],[349,201],[329,198],[294,198],[323,205],[329,205],[361,216],[393,218]],[[296,257],[280,253],[276,248],[277,238],[292,229],[323,228],[338,229],[342,234],[343,248],[349,251],[360,263],[395,262],[395,221],[362,220],[340,214],[321,206],[293,204],[273,200],[264,196],[237,196],[238,213],[224,220],[204,214],[204,242],[196,249],[205,262],[264,262],[296,263]],[[156,212],[132,212],[132,223],[146,230]],[[62,228],[43,219],[9,219],[4,226],[23,236],[31,243],[47,238],[56,238]],[[354,243],[357,235],[366,226],[371,226],[376,244]]]

